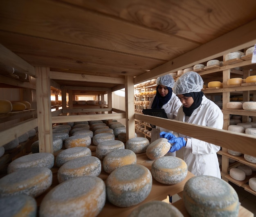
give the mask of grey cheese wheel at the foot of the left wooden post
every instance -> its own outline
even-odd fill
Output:
[[[7,167],[7,173],[13,173],[23,168],[46,167],[52,168],[54,155],[51,153],[34,153],[14,159]]]

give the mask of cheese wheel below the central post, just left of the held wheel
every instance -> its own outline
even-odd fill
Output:
[[[126,141],[126,149],[133,151],[135,154],[146,152],[150,142],[144,137],[135,137]]]

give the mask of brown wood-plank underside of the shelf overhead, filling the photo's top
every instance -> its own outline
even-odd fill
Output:
[[[112,78],[136,84],[252,46],[255,11],[255,0],[1,0],[0,43],[32,66],[106,76],[60,85],[115,89]]]

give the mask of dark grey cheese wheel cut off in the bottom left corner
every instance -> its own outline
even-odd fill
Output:
[[[36,200],[28,195],[0,197],[0,213],[2,217],[36,216]]]

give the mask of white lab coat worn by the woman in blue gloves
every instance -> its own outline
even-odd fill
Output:
[[[223,113],[220,108],[207,97],[202,97],[201,105],[193,111],[187,121],[185,114],[180,107],[176,120],[197,124],[201,126],[209,126],[222,129]],[[192,137],[178,134],[179,137],[187,138],[186,146],[184,147],[184,161],[188,165],[188,170],[194,175],[211,175],[218,178],[220,176],[220,168],[218,163],[217,152],[220,146],[194,139]]]

